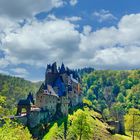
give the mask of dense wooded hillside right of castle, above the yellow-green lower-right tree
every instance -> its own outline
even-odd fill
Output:
[[[104,112],[112,105],[140,109],[140,70],[94,71],[82,78],[84,96],[93,107]]]

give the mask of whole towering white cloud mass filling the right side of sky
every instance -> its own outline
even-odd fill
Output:
[[[135,21],[135,22],[134,22]],[[140,68],[140,14],[124,16],[118,27],[82,35],[80,50],[97,68]]]

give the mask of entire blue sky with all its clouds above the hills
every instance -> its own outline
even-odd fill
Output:
[[[48,63],[140,68],[138,0],[0,0],[0,73],[38,81]]]

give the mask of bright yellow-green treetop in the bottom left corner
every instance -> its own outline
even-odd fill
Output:
[[[32,140],[32,138],[27,128],[6,120],[6,123],[0,127],[0,140]]]

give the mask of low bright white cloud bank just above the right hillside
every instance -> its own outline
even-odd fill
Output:
[[[140,68],[140,47],[107,48],[97,52],[92,59],[96,67],[108,69]]]

